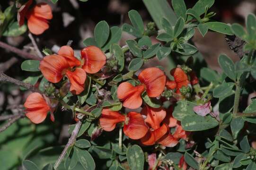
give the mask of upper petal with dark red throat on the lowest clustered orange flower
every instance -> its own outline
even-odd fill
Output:
[[[145,106],[141,110],[141,114],[147,117],[145,121],[149,124],[150,127],[153,129],[158,129],[166,116],[166,111],[162,107],[152,108],[150,106]]]

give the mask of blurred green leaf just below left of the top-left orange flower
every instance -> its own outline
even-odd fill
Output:
[[[4,31],[3,36],[19,36],[21,34],[24,34],[27,30],[26,25],[23,26],[18,25],[18,22],[13,22],[8,28]]]

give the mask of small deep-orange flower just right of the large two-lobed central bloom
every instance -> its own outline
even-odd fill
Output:
[[[171,90],[176,88],[176,93],[179,94],[180,88],[182,86],[188,86],[188,84],[190,83],[188,80],[188,76],[181,68],[173,68],[171,70],[171,75],[174,76],[174,81],[168,80],[166,87]]]

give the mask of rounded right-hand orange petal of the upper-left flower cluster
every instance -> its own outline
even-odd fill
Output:
[[[106,55],[96,46],[88,46],[81,50],[84,59],[82,68],[87,73],[97,73],[106,64]]]

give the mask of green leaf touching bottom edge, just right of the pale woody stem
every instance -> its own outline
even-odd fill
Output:
[[[78,147],[75,147],[74,149],[76,150],[79,162],[84,167],[84,169],[95,170],[95,162],[90,153],[88,153],[88,151],[79,149]]]

